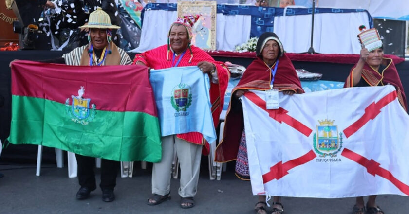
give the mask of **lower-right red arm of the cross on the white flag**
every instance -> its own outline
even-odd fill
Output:
[[[382,178],[389,180],[400,191],[402,191],[406,195],[409,195],[409,186],[395,178],[392,175],[392,173],[390,173],[388,170],[379,167],[379,165],[381,164],[376,162],[375,160],[373,159],[368,160],[364,156],[361,156],[358,153],[355,153],[347,148],[344,148],[341,155],[367,168],[368,173],[371,174],[372,176],[378,175]]]

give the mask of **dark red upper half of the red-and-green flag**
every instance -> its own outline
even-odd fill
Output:
[[[64,104],[78,96],[98,110],[138,111],[157,116],[148,68],[144,66],[67,66],[17,61],[11,66],[12,95],[29,96]]]

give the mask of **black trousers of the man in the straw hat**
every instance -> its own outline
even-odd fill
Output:
[[[75,154],[78,164],[78,182],[81,187],[88,187],[91,190],[96,189],[95,182],[95,158]],[[101,159],[101,183],[102,190],[113,188],[116,185],[119,162],[114,160]]]

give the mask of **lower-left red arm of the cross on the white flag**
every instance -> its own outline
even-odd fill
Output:
[[[289,160],[285,163],[279,161],[276,165],[270,167],[270,172],[263,175],[263,183],[267,183],[273,179],[280,179],[288,174],[288,170],[307,163],[316,158],[315,152],[311,149],[305,155],[293,160]]]

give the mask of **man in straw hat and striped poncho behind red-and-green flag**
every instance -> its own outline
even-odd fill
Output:
[[[112,25],[110,17],[101,8],[90,14],[89,22],[80,28],[89,28],[89,44],[75,48],[61,58],[41,60],[67,65],[103,66],[130,65],[132,61],[128,54],[118,48],[111,40],[111,30],[120,27]],[[76,194],[78,200],[86,199],[90,192],[96,189],[94,164],[95,158],[75,154],[78,163],[78,181],[81,188]],[[116,185],[119,162],[113,160],[101,161],[102,200],[111,202],[115,199],[113,189]]]

